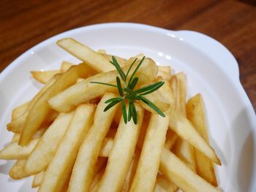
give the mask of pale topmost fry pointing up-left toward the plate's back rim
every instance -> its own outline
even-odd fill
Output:
[[[57,45],[86,64],[89,64],[89,66],[97,72],[108,72],[115,69],[115,67],[109,63],[108,59],[94,50],[91,50],[91,48],[86,45],[77,42],[75,39],[60,39]]]

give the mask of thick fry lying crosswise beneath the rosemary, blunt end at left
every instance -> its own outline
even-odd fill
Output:
[[[138,66],[138,62],[134,64],[129,74],[132,74],[136,66]],[[126,66],[124,68],[124,72],[126,73],[128,69],[129,66]],[[137,74],[140,75],[141,84],[150,83],[156,77],[155,75],[157,75],[157,66],[150,58],[146,58],[138,69]],[[106,92],[116,92],[117,89],[115,87],[94,84],[91,82],[108,82],[115,84],[117,75],[117,71],[96,74],[87,78],[86,80],[83,80],[82,82],[78,82],[75,85],[72,85],[71,87],[57,94],[52,99],[48,100],[48,104],[50,104],[50,107],[52,107],[54,110],[60,112],[69,112],[80,103],[90,101],[97,96],[102,96]],[[151,94],[149,94],[149,96],[150,95]],[[163,103],[164,101],[157,99],[157,102]]]

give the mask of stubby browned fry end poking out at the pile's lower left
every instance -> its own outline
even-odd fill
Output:
[[[19,159],[10,169],[9,175],[13,180],[20,180],[25,177],[29,177],[30,174],[24,171],[24,166],[26,164],[27,159]]]

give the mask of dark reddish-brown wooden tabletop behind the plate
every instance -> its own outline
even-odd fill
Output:
[[[48,37],[107,22],[145,23],[214,37],[235,55],[256,110],[256,1],[1,0],[0,72]]]

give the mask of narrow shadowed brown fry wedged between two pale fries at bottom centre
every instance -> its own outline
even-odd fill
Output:
[[[124,185],[121,188],[121,192],[128,192],[129,189],[131,188],[132,180],[135,176],[135,172],[136,172],[136,169],[137,169],[137,166],[138,166],[139,158],[140,158],[140,150],[135,149],[135,153],[133,154],[132,162],[129,165],[129,171],[127,173],[127,177],[125,177]]]

